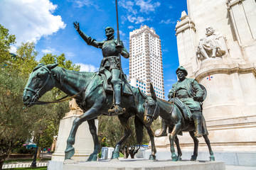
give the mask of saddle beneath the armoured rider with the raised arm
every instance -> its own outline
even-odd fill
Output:
[[[107,93],[111,93],[112,94],[113,93],[113,88],[112,88],[112,85],[110,83],[110,80],[111,80],[111,73],[110,73],[110,71],[108,71],[107,69],[104,69],[102,72],[100,72],[99,76],[103,80],[103,82],[102,82],[103,89]],[[122,79],[122,92],[121,92],[122,95],[124,95],[124,96],[132,96],[133,93],[132,93],[132,91],[129,88],[132,88],[131,85],[128,84],[127,81],[125,81],[125,79]]]

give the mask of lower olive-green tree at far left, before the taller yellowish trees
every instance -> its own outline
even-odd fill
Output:
[[[1,162],[14,148],[16,142],[26,141],[33,131],[37,132],[39,126],[46,122],[52,112],[50,108],[34,106],[23,109],[21,100],[26,79],[5,68],[0,74],[0,158]],[[49,98],[50,94],[44,96]],[[46,113],[48,114],[46,116]],[[45,127],[43,127],[45,128]],[[1,164],[0,164],[1,167]]]

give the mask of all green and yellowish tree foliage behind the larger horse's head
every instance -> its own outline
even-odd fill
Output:
[[[60,119],[68,112],[68,101],[23,109],[23,88],[29,74],[38,64],[38,52],[33,42],[26,42],[18,47],[16,55],[12,55],[9,50],[14,43],[15,35],[9,35],[9,30],[0,25],[0,169],[11,149],[28,140],[31,135],[38,136],[38,130],[43,130],[40,141],[43,147],[50,147],[53,135],[58,133]],[[80,69],[66,60],[64,54],[46,54],[41,61],[45,64],[58,63],[65,69]],[[53,89],[43,95],[41,100],[53,101],[61,95]]]

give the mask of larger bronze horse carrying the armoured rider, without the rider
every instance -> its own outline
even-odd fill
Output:
[[[23,92],[23,103],[28,107],[37,104],[38,98],[53,89],[53,87],[57,87],[65,94],[68,94],[68,96],[73,96],[83,91],[78,96],[75,96],[75,99],[78,106],[80,106],[85,113],[75,118],[73,121],[65,149],[65,159],[71,159],[73,154],[75,154],[75,148],[73,147],[75,143],[75,133],[78,130],[78,126],[87,121],[94,142],[94,152],[90,154],[87,161],[97,161],[97,154],[100,153],[100,142],[96,133],[95,118],[99,115],[109,115],[107,109],[112,106],[112,94],[105,92],[102,79],[98,74],[94,72],[70,71],[57,67],[57,65],[58,64],[38,64],[38,66],[33,69]],[[138,89],[132,88],[132,91],[134,96],[122,96],[122,107],[125,107],[127,111],[122,115],[118,115],[118,118],[124,128],[124,136],[117,142],[112,154],[112,159],[118,159],[119,149],[127,138],[132,135],[132,130],[129,127],[129,118],[134,115],[137,142],[141,144],[143,127],[145,127],[152,144],[149,159],[154,160],[156,159],[154,132],[143,123],[144,108],[142,104],[144,103],[144,98],[142,98]],[[135,98],[138,104],[135,103]]]

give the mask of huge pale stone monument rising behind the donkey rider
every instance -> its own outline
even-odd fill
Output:
[[[215,160],[256,166],[256,3],[188,0],[187,5],[188,14],[183,11],[176,24],[178,59],[188,77],[207,89],[203,115]],[[213,39],[208,40],[206,28],[220,33],[215,32],[217,39],[212,47]],[[169,147],[163,138],[156,139],[162,149]],[[182,151],[191,152],[193,140],[189,138],[188,133],[179,137]],[[199,151],[204,154],[207,146],[198,139]],[[157,149],[159,152],[161,149]]]

